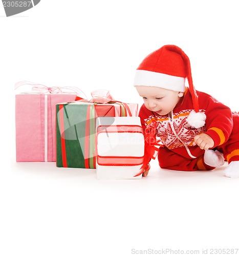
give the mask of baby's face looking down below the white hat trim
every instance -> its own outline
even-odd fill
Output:
[[[136,90],[143,98],[146,108],[161,116],[170,113],[183,96],[183,92],[171,91],[159,87],[136,86]]]

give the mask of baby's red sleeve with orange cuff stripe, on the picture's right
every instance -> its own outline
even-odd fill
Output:
[[[200,108],[206,112],[206,134],[214,141],[214,147],[225,143],[232,131],[232,112],[228,106],[206,93],[199,92]]]

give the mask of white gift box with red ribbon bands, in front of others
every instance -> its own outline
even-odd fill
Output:
[[[97,179],[141,179],[144,136],[139,117],[96,120]]]

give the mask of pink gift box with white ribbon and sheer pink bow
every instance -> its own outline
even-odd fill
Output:
[[[31,82],[19,82],[15,89],[23,84],[30,84],[35,93],[15,95],[16,161],[55,162],[56,104],[74,101],[77,93],[74,90],[62,93],[60,88],[47,88]],[[36,85],[40,89],[33,87]]]

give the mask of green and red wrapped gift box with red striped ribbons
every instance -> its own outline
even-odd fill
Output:
[[[57,167],[96,168],[96,118],[138,115],[137,103],[99,101],[80,99],[56,105]]]

